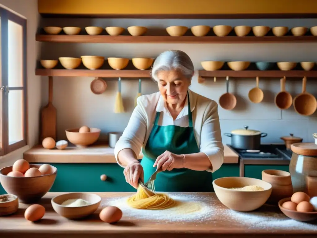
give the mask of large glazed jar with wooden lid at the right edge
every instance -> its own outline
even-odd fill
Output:
[[[317,142],[291,144],[293,151],[289,172],[293,192],[317,196]]]

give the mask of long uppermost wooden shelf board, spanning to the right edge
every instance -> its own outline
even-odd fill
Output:
[[[56,43],[307,43],[317,36],[108,36],[36,35],[36,41]]]

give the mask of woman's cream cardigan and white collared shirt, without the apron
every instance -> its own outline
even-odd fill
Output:
[[[188,93],[198,148],[200,152],[208,156],[211,162],[212,169],[207,169],[207,171],[215,172],[223,164],[223,144],[217,102],[191,90],[188,90]],[[130,148],[136,155],[140,154],[151,133],[156,112],[161,112],[158,125],[189,126],[188,98],[184,108],[174,121],[159,92],[140,96],[128,125],[114,148],[115,158],[121,167],[124,166],[118,160],[118,153],[122,149]]]

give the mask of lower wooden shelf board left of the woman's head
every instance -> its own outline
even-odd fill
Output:
[[[38,76],[85,76],[85,77],[103,77],[103,78],[151,78],[150,70],[138,69],[36,69],[35,75]]]

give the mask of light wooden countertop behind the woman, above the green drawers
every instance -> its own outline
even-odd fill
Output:
[[[142,159],[142,151],[139,159]],[[37,145],[24,152],[23,158],[30,163],[116,163],[114,149],[108,145],[94,145],[87,148],[69,146],[64,150],[44,149]],[[238,163],[238,155],[224,145],[224,163]]]

